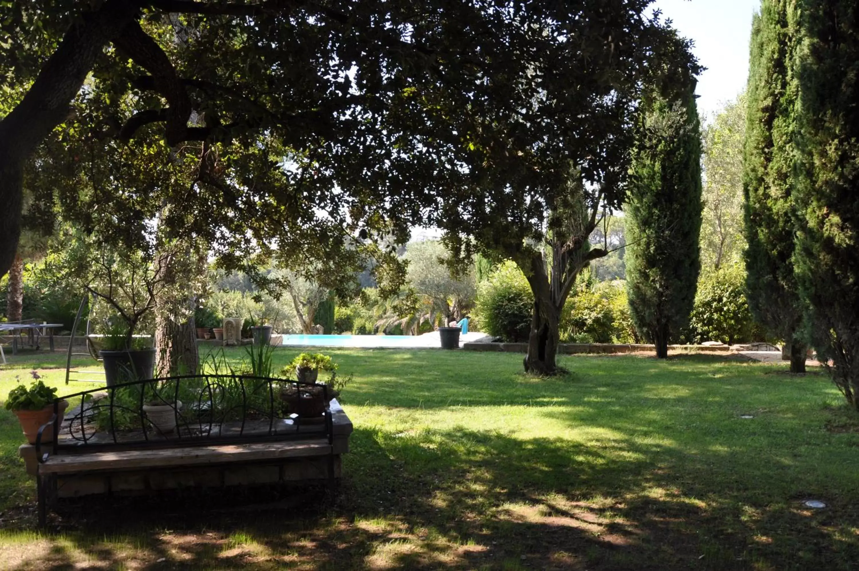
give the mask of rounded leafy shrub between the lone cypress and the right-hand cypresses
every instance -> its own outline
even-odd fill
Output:
[[[739,264],[722,267],[698,281],[692,309],[690,341],[722,341],[733,345],[752,341],[755,325],[746,303],[746,272]]]

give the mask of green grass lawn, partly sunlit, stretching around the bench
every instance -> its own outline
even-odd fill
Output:
[[[295,353],[277,349],[277,363]],[[342,399],[355,433],[342,488],[321,507],[277,496],[221,509],[202,496],[181,513],[33,531],[22,437],[0,410],[0,568],[776,570],[859,558],[859,422],[823,374],[573,356],[561,358],[569,376],[531,378],[518,354],[326,353],[355,374]],[[48,367],[64,362],[10,360],[0,400],[33,366],[63,383]],[[803,507],[811,498],[829,507]]]

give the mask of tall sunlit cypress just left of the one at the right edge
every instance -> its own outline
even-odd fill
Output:
[[[789,345],[790,371],[805,372],[804,308],[792,261],[799,96],[792,65],[799,37],[794,4],[763,0],[752,23],[743,157],[746,297],[755,320]]]

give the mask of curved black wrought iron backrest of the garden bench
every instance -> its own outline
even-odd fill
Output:
[[[45,429],[53,432],[52,454],[311,436],[331,442],[330,396],[326,384],[233,374],[183,375],[82,390],[55,400],[55,419],[63,400],[80,397],[81,404],[63,421],[42,427],[37,457],[45,458]],[[320,417],[309,418],[314,412],[308,412],[308,405]],[[150,406],[162,407],[166,421],[159,421],[158,410]]]

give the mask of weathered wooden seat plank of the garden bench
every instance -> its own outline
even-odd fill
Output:
[[[324,456],[332,452],[327,439],[258,442],[212,446],[187,446],[156,450],[97,452],[58,455],[39,464],[40,474],[198,466],[230,462],[253,462],[289,457]]]

